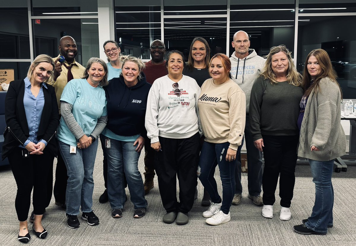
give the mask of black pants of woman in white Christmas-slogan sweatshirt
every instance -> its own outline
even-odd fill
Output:
[[[155,168],[163,207],[169,212],[188,213],[193,207],[199,161],[199,133],[189,138],[159,137]],[[177,201],[177,177],[179,204]]]

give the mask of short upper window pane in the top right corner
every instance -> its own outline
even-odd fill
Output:
[[[299,13],[356,12],[355,0],[299,0]]]

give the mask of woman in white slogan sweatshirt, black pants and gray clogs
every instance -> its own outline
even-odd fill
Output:
[[[153,83],[147,99],[145,126],[151,147],[156,152],[155,169],[159,193],[167,211],[164,223],[188,223],[197,186],[199,158],[197,82],[182,74],[183,54],[168,53],[168,75]],[[179,203],[177,202],[177,177]]]

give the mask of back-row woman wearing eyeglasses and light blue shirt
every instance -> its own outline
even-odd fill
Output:
[[[119,44],[114,41],[114,40],[107,40],[105,41],[104,45],[104,52],[106,56],[108,57],[108,63],[106,65],[108,66],[108,81],[112,78],[119,78],[121,71],[122,71],[122,62],[120,60],[120,46]],[[106,156],[106,150],[105,150],[105,137],[100,134],[100,142],[101,142],[101,148],[103,150],[103,176],[104,176],[104,185],[105,185],[105,190],[104,193],[99,197],[99,202],[100,203],[106,203],[109,200],[108,197],[108,158]]]

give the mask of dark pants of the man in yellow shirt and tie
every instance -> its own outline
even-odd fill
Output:
[[[66,202],[67,179],[67,167],[64,164],[62,156],[59,155],[58,150],[56,180],[54,181],[53,195],[54,199],[62,204]]]

